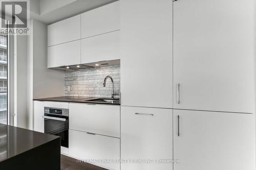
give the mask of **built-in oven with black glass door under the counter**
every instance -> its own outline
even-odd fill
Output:
[[[57,135],[61,146],[69,148],[69,109],[45,107],[45,133]]]

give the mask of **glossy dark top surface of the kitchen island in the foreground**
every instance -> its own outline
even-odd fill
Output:
[[[0,162],[26,153],[57,138],[59,137],[0,124]]]

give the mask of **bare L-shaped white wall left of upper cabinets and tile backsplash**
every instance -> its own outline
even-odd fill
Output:
[[[64,94],[63,70],[47,68],[47,26],[33,20],[33,99]]]

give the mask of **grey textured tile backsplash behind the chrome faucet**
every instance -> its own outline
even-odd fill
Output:
[[[111,80],[108,79],[106,81],[106,87],[103,87],[103,81],[106,76],[111,76],[113,78],[114,90],[119,95],[120,65],[66,70],[65,95],[110,98],[112,89]],[[118,95],[117,97],[119,97]]]

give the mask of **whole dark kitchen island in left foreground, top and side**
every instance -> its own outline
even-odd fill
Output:
[[[60,138],[0,124],[0,169],[59,170]]]

